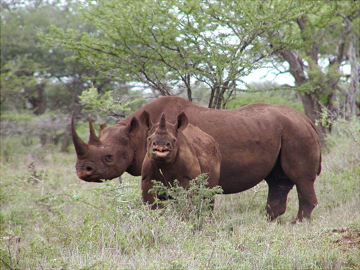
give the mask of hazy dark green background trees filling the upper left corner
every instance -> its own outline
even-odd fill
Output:
[[[1,2],[1,110],[30,109],[42,114],[46,109],[69,108],[77,95],[95,86],[121,92],[98,72],[71,59],[71,50],[50,48],[37,32],[50,25],[71,27],[80,32],[94,30],[78,16],[74,1]],[[91,79],[89,79],[91,78]]]

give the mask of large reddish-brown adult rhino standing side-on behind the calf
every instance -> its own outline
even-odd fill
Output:
[[[287,195],[295,184],[297,220],[310,218],[317,204],[314,181],[321,170],[319,138],[309,118],[287,105],[253,103],[234,110],[217,110],[164,96],[116,125],[102,125],[99,137],[89,120],[88,144],[76,134],[72,119],[78,177],[101,182],[125,171],[134,176],[141,174],[148,132],[139,127],[137,118],[144,110],[155,123],[165,112],[172,124],[184,112],[189,123],[217,141],[222,156],[219,185],[224,194],[247,190],[265,179],[269,186],[266,212],[272,220],[285,212]]]

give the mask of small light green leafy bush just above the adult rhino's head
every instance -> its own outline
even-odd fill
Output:
[[[131,109],[131,105],[142,102],[143,100],[143,98],[136,98],[121,104],[120,100],[114,100],[112,91],[99,94],[98,90],[94,86],[82,91],[79,96],[79,102],[81,105],[84,105],[85,112],[95,112],[103,116],[124,116],[125,111],[129,111]]]

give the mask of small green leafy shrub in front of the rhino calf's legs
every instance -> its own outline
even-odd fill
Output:
[[[207,174],[197,176],[190,180],[188,189],[179,186],[177,180],[174,181],[174,185],[169,187],[162,182],[153,180],[153,188],[149,190],[149,193],[157,194],[157,197],[154,198],[154,205],[171,208],[171,211],[179,214],[181,220],[191,224],[194,231],[198,231],[202,229],[206,217],[211,214],[215,194],[222,193],[220,186],[207,188],[207,179]],[[159,196],[162,195],[167,199],[159,199]]]

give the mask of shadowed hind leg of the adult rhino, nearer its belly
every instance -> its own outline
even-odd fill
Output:
[[[269,186],[265,210],[268,219],[272,221],[285,212],[288,194],[294,183],[285,175],[279,160],[270,174],[265,177],[265,181]]]

